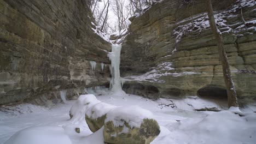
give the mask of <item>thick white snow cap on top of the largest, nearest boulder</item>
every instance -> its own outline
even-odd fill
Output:
[[[137,105],[118,107],[107,113],[105,123],[112,121],[115,127],[123,126],[124,122],[129,123],[130,127],[141,127],[143,119],[153,119],[153,113],[142,109]]]

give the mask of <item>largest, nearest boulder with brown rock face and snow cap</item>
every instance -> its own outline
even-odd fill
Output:
[[[103,134],[105,143],[148,144],[160,134],[160,127],[148,110],[118,107],[107,113]]]

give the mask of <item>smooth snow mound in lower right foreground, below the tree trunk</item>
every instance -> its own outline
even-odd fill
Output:
[[[255,118],[255,114],[252,113]],[[167,134],[160,134],[154,143],[254,143],[256,125],[230,111],[213,113],[203,118],[188,118],[166,125]],[[165,133],[166,133],[165,131]]]

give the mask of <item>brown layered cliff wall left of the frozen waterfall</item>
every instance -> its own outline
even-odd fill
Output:
[[[0,0],[0,104],[40,104],[51,92],[108,84],[101,63],[109,64],[110,44],[91,17],[84,0]]]

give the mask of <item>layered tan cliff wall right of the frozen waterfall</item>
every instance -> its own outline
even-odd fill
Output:
[[[213,1],[240,103],[256,100],[255,3]],[[213,91],[226,96],[205,8],[204,0],[165,0],[132,19],[121,51],[121,76],[129,79],[126,92],[155,99]]]

